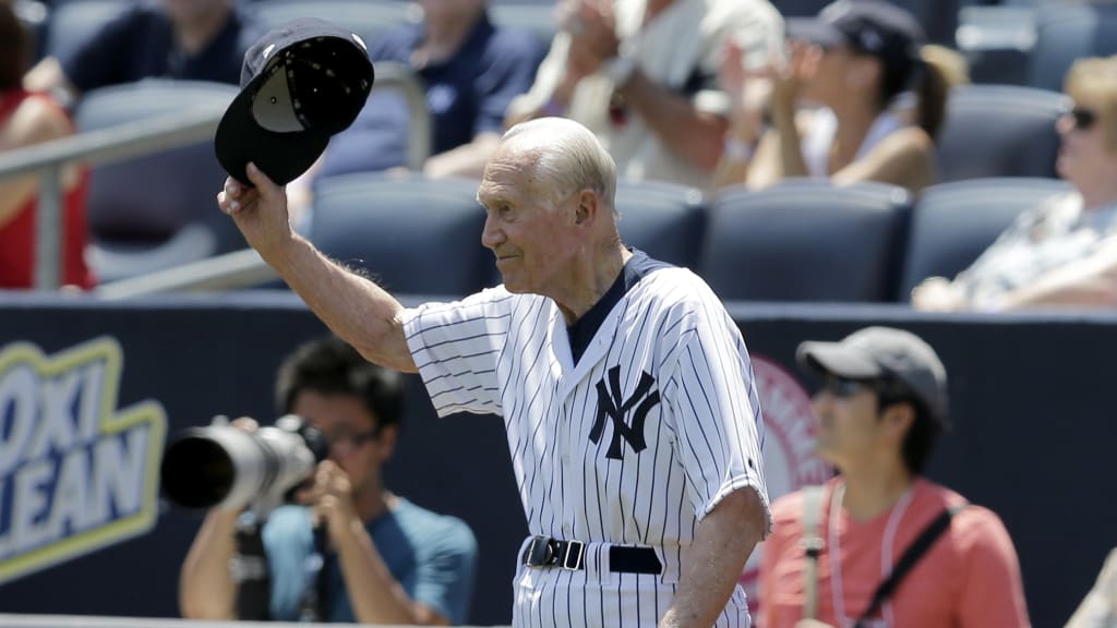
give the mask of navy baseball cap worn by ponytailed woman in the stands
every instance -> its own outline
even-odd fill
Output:
[[[915,67],[927,39],[915,16],[885,0],[838,0],[814,18],[789,19],[786,29],[790,39],[823,48],[848,46],[900,72]]]

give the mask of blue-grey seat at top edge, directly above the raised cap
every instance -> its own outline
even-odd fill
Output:
[[[420,19],[419,7],[401,0],[259,0],[252,10],[267,30],[298,18],[321,18],[345,25],[366,44]]]

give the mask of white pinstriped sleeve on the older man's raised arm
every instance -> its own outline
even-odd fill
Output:
[[[513,301],[503,288],[493,288],[404,311],[403,333],[439,417],[500,413],[496,365]]]

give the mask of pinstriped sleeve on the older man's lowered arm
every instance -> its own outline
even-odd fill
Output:
[[[753,488],[772,513],[762,468],[764,425],[744,340],[717,297],[706,291],[680,331],[667,389],[676,447],[695,516],[706,516],[741,488]]]

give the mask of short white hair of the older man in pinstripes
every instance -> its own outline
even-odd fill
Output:
[[[528,154],[535,172],[553,183],[552,200],[591,189],[615,213],[617,164],[589,129],[565,117],[540,117],[509,129],[502,142]]]

